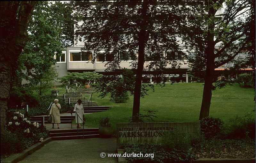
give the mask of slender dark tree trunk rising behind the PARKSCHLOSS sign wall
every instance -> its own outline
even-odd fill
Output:
[[[144,50],[145,50],[146,25],[147,25],[145,22],[145,18],[147,16],[147,9],[148,9],[148,1],[143,1],[142,10],[141,10],[142,19],[140,23],[140,32],[138,34],[139,56],[138,56],[138,66],[137,66],[137,73],[136,73],[135,86],[134,86],[132,122],[138,122],[139,114],[140,114],[140,90],[141,90],[142,73],[143,73],[143,67],[144,67]]]

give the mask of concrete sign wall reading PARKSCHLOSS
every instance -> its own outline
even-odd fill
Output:
[[[117,148],[122,143],[157,143],[164,132],[173,129],[188,133],[199,132],[200,122],[116,123]]]

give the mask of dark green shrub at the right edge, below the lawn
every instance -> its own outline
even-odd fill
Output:
[[[244,117],[236,115],[226,125],[226,134],[230,139],[250,137],[255,139],[255,114],[247,114]]]

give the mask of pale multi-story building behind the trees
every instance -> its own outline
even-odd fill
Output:
[[[223,8],[220,8],[216,16],[223,13]],[[83,22],[79,22],[78,25],[81,25]],[[180,63],[179,68],[171,69],[171,65],[166,66],[166,78],[169,81],[175,82],[192,82],[192,77],[188,76],[189,64],[186,60],[186,56],[188,55],[187,49],[184,48],[184,44],[181,38],[177,37],[177,41],[179,43],[180,48],[182,49],[180,54],[167,52],[165,54],[166,58],[169,60],[178,59],[178,63]],[[220,43],[216,44],[219,46]],[[79,41],[76,43],[74,41],[74,47],[68,47],[65,51],[62,51],[61,56],[54,56],[57,60],[55,65],[59,76],[67,75],[67,72],[84,72],[84,71],[91,71],[91,72],[98,72],[100,74],[106,74],[107,72],[105,64],[117,55],[113,53],[106,54],[104,51],[99,51],[96,54],[92,53],[82,53],[81,48],[84,47],[84,43]],[[92,63],[92,56],[96,56],[96,60]],[[131,69],[130,65],[132,61],[136,62],[137,54],[129,54],[127,53],[126,56],[120,56],[120,67]],[[150,61],[149,61],[150,62]],[[149,62],[144,63],[144,67],[147,66]],[[223,67],[221,67],[223,68]],[[218,69],[222,70],[222,69]],[[109,72],[108,72],[109,74]],[[167,81],[168,81],[167,80]],[[148,80],[144,80],[144,82],[154,81],[154,78],[150,78]]]

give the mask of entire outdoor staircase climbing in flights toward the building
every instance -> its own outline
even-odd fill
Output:
[[[82,100],[82,104],[84,106],[84,113],[96,113],[107,111],[109,109],[108,106],[98,106],[96,102],[92,101],[92,96],[90,95],[95,91],[94,88],[82,88],[78,90],[74,90],[75,92],[70,92],[68,94],[60,95],[59,99],[64,99],[73,104],[73,106],[77,103],[78,99]],[[83,94],[83,95],[82,95]],[[89,99],[90,98],[90,99]],[[69,113],[74,113],[74,107],[69,110]],[[30,122],[38,122],[42,123],[42,119],[44,119],[44,123],[47,122],[47,116],[34,116],[30,118]],[[75,116],[60,116],[61,123],[72,123],[72,120],[75,119]],[[76,125],[75,125],[76,126]],[[84,136],[83,136],[84,134]],[[94,138],[99,137],[99,129],[66,129],[66,130],[49,130],[49,136],[52,137],[52,140],[67,140],[67,139],[82,139],[82,138]]]

